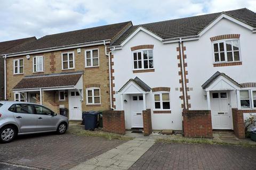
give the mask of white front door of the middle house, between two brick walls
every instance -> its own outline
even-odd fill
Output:
[[[143,95],[130,95],[132,128],[143,128]]]

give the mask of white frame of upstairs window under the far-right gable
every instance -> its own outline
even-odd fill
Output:
[[[234,50],[233,49],[233,41],[237,40],[238,41],[238,50]],[[232,58],[233,61],[228,61],[228,55],[227,55],[227,45],[226,45],[226,41],[231,41],[231,51],[228,52],[232,52]],[[225,56],[225,61],[219,61],[219,62],[215,62],[215,53],[219,54],[219,59],[220,59],[220,43],[223,43],[224,46],[224,56]],[[214,44],[218,44],[218,52],[214,52]],[[239,52],[239,61],[235,61],[235,56],[234,56],[234,52]],[[242,62],[242,56],[241,56],[241,46],[240,46],[240,39],[239,38],[230,38],[230,39],[222,39],[222,40],[217,40],[217,41],[213,41],[212,42],[212,54],[213,54],[213,63],[214,64],[218,64],[218,63],[235,63],[235,62]]]

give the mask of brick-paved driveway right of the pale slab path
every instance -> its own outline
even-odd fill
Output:
[[[256,148],[217,145],[153,145],[135,169],[256,169]]]

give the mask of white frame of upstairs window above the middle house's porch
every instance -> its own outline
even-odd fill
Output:
[[[144,69],[144,58],[143,58],[143,51],[147,50],[147,55],[148,55],[148,51],[149,50],[152,50],[152,55],[153,57],[149,59],[149,57],[145,60],[148,61],[148,69]],[[137,53],[137,60],[134,60],[134,56],[133,54],[134,53]],[[141,53],[141,60],[138,60],[138,53]],[[153,67],[152,68],[149,68],[149,60],[153,60]],[[134,68],[134,62],[137,61],[137,69]],[[141,68],[139,69],[139,64],[138,64],[138,61],[141,61]],[[154,65],[154,49],[150,49],[150,48],[145,48],[145,49],[138,49],[138,50],[134,50],[132,51],[132,69],[133,71],[135,70],[151,70],[151,69],[155,69],[155,65]]]

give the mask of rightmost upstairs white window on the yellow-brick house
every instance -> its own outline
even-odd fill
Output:
[[[99,66],[99,49],[85,50],[85,67]]]

